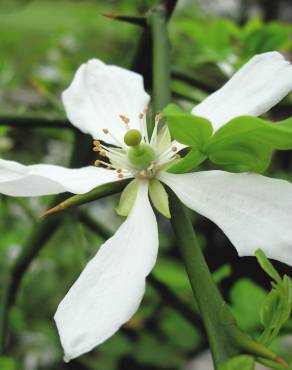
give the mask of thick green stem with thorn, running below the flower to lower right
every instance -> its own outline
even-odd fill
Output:
[[[281,362],[275,353],[238,328],[213,281],[186,208],[172,191],[169,196],[172,227],[205,324],[215,368],[241,353]]]

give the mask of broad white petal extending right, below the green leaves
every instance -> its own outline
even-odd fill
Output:
[[[292,184],[256,174],[205,171],[164,181],[189,208],[216,223],[239,255],[262,248],[292,265]]]

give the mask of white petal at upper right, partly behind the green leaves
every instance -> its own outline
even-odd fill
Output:
[[[241,115],[260,116],[292,90],[292,66],[277,52],[253,57],[192,114],[209,119],[214,129]]]

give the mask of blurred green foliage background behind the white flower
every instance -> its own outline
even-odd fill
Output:
[[[68,86],[76,68],[87,59],[100,58],[131,67],[142,29],[102,14],[142,15],[155,3],[150,0],[1,0],[0,120],[7,115],[64,117],[60,93]],[[291,21],[290,1],[179,0],[169,22],[174,100],[186,109],[194,106],[254,54],[278,50],[291,60]],[[140,63],[140,69],[147,71],[147,60]],[[291,97],[271,112],[272,118],[291,115]],[[67,165],[72,140],[70,129],[0,125],[1,157],[25,164]],[[275,155],[268,174],[292,178],[291,158],[289,152]],[[0,196],[2,283],[49,201],[49,197]],[[116,201],[116,198],[105,199],[84,210],[93,219],[106,221],[113,232],[122,221],[114,212]],[[182,314],[174,308],[172,294],[188,309],[196,310],[196,305],[169,224],[158,218],[159,259],[139,311],[106,343],[65,364],[53,314],[103,241],[102,236],[82,222],[78,212],[66,215],[25,274],[10,312],[8,353],[0,357],[0,369],[212,369],[208,363],[191,364],[207,353],[208,346],[200,325],[187,319],[189,311]],[[254,258],[238,258],[217,227],[195,215],[193,218],[214,279],[240,326],[256,335],[260,329],[258,311],[269,288],[268,279]],[[278,263],[277,267],[292,275],[287,266]],[[273,344],[288,361],[292,360],[291,330],[292,321]]]

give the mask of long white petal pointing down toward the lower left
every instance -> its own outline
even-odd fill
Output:
[[[158,249],[155,215],[143,181],[126,221],[88,263],[55,314],[65,360],[111,337],[138,309]]]

